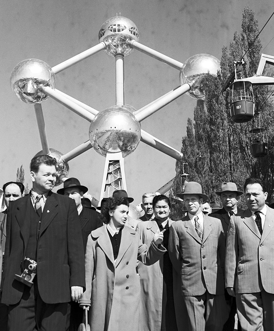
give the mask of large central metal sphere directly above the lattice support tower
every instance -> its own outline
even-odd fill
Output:
[[[99,112],[89,127],[89,139],[99,154],[122,152],[126,157],[138,146],[141,125],[132,114],[132,106],[112,106]]]

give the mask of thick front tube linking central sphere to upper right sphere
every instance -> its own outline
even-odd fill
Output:
[[[187,83],[182,86],[179,86],[174,91],[167,93],[167,95],[165,95],[165,97],[161,98],[160,100],[154,102],[153,104],[151,104],[150,106],[145,108],[142,112],[136,114],[135,117],[137,118],[137,120],[139,122],[141,122],[142,120],[144,120],[145,118],[154,114],[159,109],[163,108],[164,106],[169,104],[171,101],[177,99],[178,97],[180,97],[181,95],[183,95],[184,93],[186,93],[189,90],[190,90],[190,85]]]

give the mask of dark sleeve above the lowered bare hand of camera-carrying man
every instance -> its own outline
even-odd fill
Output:
[[[79,216],[75,201],[70,199],[68,211],[68,261],[69,286],[82,286],[85,289],[85,261]]]

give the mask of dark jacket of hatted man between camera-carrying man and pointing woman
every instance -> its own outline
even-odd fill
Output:
[[[83,207],[79,215],[84,251],[86,251],[87,238],[91,231],[103,225],[103,222],[99,220],[99,215],[100,213],[85,207]]]

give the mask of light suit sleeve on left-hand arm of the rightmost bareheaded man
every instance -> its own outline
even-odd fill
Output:
[[[225,287],[234,287],[238,263],[238,235],[235,229],[234,216],[228,227],[225,257]]]

